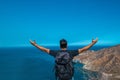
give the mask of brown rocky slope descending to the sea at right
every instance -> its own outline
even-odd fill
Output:
[[[74,60],[85,64],[84,69],[99,72],[99,80],[120,80],[120,45],[86,51]]]

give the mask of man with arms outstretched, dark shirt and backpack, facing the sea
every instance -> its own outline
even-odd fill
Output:
[[[67,41],[65,39],[60,40],[60,49],[61,50],[50,50],[39,46],[35,41],[30,41],[30,43],[37,47],[38,49],[52,55],[55,57],[55,75],[56,80],[72,80],[74,75],[74,67],[72,64],[72,59],[78,54],[88,50],[91,48],[96,42],[98,38],[92,40],[92,43],[88,46],[85,46],[78,50],[67,50]]]

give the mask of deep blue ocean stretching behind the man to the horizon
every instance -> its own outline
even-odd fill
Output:
[[[68,50],[81,47],[73,46]],[[91,50],[107,47],[109,46],[94,46]],[[83,64],[75,63],[74,67],[74,80],[88,80]],[[55,80],[54,58],[35,47],[0,48],[0,80]]]

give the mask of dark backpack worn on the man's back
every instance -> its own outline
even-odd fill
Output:
[[[67,51],[58,52],[55,58],[56,79],[69,80],[73,76],[73,65],[70,54]]]

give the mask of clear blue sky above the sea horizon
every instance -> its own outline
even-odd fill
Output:
[[[0,47],[120,43],[120,0],[0,1]]]

